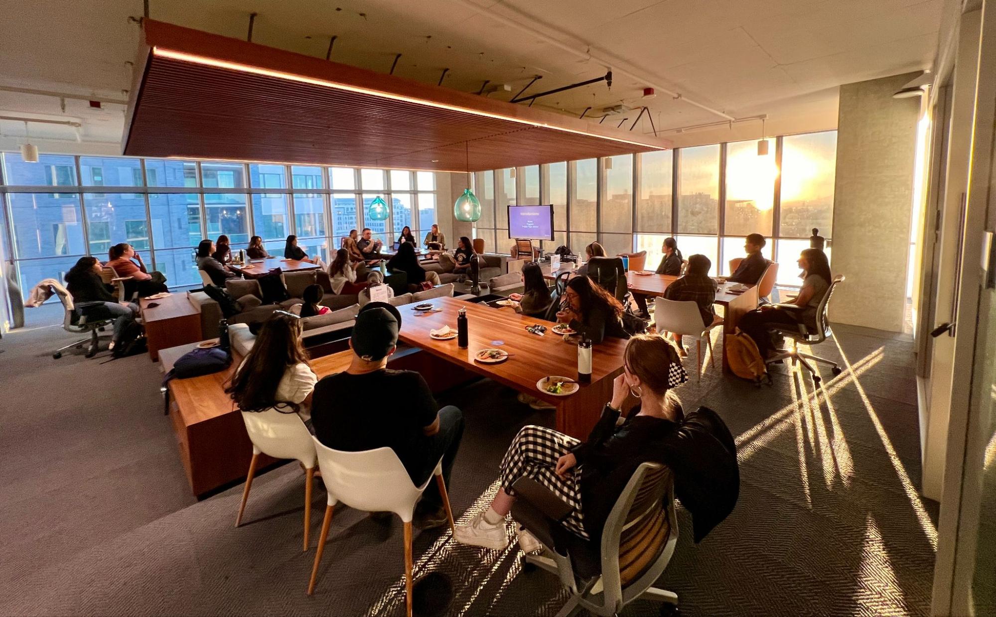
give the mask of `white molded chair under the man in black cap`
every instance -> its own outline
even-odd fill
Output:
[[[329,503],[325,509],[325,518],[322,520],[322,535],[318,540],[315,565],[312,568],[311,580],[308,582],[308,595],[315,591],[318,566],[322,561],[322,550],[329,536],[332,511],[336,504],[343,502],[350,508],[365,512],[391,512],[400,516],[404,523],[405,607],[408,617],[411,617],[411,517],[414,514],[415,503],[432,478],[426,480],[420,487],[413,485],[397,455],[387,447],[364,452],[343,452],[327,448],[315,439],[315,449],[318,452],[319,466],[322,468],[322,482],[325,483],[329,494]],[[435,476],[439,487],[439,496],[442,498],[446,516],[449,518],[449,528],[452,531],[453,513],[449,508],[446,483],[442,479],[442,457],[436,463],[432,475]]]

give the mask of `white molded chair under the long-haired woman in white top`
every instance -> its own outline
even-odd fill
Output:
[[[265,454],[275,459],[297,459],[305,466],[305,540],[304,550],[308,550],[309,530],[311,529],[311,496],[315,480],[315,443],[308,427],[296,413],[281,413],[270,408],[266,411],[243,411],[242,420],[252,441],[252,461],[246,475],[246,487],[242,491],[242,505],[235,517],[235,526],[242,522],[252,478],[256,474],[259,455]]]

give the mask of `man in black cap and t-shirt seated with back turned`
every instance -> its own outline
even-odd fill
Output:
[[[415,486],[429,480],[441,456],[442,477],[448,485],[463,436],[463,414],[453,406],[439,409],[417,372],[387,368],[387,358],[397,348],[400,322],[401,314],[386,303],[360,309],[350,339],[354,354],[350,367],[322,379],[315,388],[315,437],[329,448],[348,452],[387,446]],[[348,404],[358,394],[370,397],[369,404],[362,408]],[[446,524],[434,482],[415,507],[413,522],[422,528]]]

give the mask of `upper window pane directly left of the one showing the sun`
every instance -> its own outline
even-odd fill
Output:
[[[678,178],[678,229],[718,233],[719,145],[681,148]]]

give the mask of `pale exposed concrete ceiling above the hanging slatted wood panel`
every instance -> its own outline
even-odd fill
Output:
[[[468,1],[477,7],[468,6]],[[601,77],[604,83],[545,97],[535,104],[579,115],[601,115],[624,104],[637,110],[606,122],[630,125],[649,107],[658,131],[723,118],[767,114],[769,134],[833,128],[841,84],[926,69],[936,45],[945,0],[149,0],[150,16],[225,36],[245,38],[257,13],[253,41],[387,73],[510,100]],[[0,39],[0,88],[15,87],[122,100],[138,40],[140,0],[0,0],[9,32]],[[529,31],[509,25],[518,23]],[[536,34],[538,32],[541,35]],[[557,42],[554,44],[551,42]],[[571,53],[565,48],[577,50]],[[591,50],[599,60],[584,57]],[[627,74],[627,75],[623,75]],[[638,76],[637,78],[631,77]],[[680,93],[675,99],[656,85]],[[0,114],[81,120],[87,142],[120,151],[123,107],[0,90]],[[644,114],[633,130],[651,131]],[[753,137],[757,122],[732,130],[667,134],[676,145]],[[0,146],[23,139],[23,123],[0,121]],[[66,126],[32,124],[43,149],[72,150]],[[44,138],[67,140],[47,146]],[[88,147],[93,148],[93,145]]]

